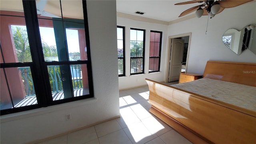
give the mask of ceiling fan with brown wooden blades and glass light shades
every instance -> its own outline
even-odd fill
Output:
[[[196,17],[198,18],[205,15],[209,15],[210,18],[213,18],[215,14],[222,12],[225,8],[233,8],[251,1],[253,0],[192,0],[188,2],[180,2],[174,5],[202,3],[198,6],[194,6],[188,10],[185,10],[180,14],[179,17],[196,11]]]

